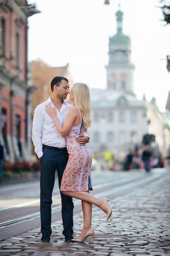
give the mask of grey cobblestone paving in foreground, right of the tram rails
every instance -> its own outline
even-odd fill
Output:
[[[169,184],[170,174],[167,174],[142,189],[115,198],[117,204],[108,222],[105,214],[94,207],[92,244],[90,238],[84,243],[65,243],[62,221],[57,221],[52,224],[50,243],[40,242],[40,228],[33,229],[0,242],[0,256],[170,255]],[[82,213],[78,213],[74,215],[75,237],[81,229]]]

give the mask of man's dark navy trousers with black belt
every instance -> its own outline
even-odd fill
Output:
[[[55,170],[58,173],[59,188],[62,175],[68,162],[68,153],[43,148],[43,156],[40,159],[40,213],[42,235],[51,235],[51,204],[52,192],[55,182]],[[73,200],[71,197],[61,194],[62,198],[62,220],[64,236],[73,235]]]

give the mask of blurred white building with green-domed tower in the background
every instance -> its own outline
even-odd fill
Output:
[[[141,144],[147,133],[146,104],[133,91],[135,66],[130,38],[122,32],[123,13],[117,16],[117,34],[109,39],[107,89],[91,89],[92,126],[88,129],[92,152],[119,152]]]

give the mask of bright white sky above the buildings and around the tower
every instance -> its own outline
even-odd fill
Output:
[[[115,13],[121,4],[123,32],[130,36],[137,98],[157,100],[164,112],[170,91],[166,55],[170,25],[165,26],[159,0],[29,0],[41,11],[29,17],[29,61],[52,67],[69,63],[75,82],[106,88],[108,40],[116,34]]]

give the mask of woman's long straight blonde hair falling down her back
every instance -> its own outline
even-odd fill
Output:
[[[82,111],[85,128],[91,126],[91,101],[90,91],[86,83],[75,83],[72,87],[75,105]]]

